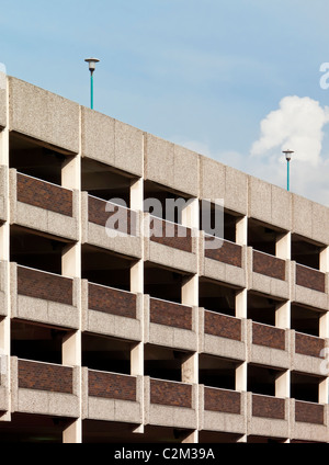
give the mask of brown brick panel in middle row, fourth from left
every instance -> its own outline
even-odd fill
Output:
[[[204,332],[211,336],[241,341],[241,320],[205,310]]]

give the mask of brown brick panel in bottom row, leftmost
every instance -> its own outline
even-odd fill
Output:
[[[73,370],[69,366],[19,360],[19,387],[72,394]]]

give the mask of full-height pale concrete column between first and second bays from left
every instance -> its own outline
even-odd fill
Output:
[[[61,185],[73,190],[75,217],[78,224],[78,240],[68,245],[61,256],[61,274],[75,279],[77,307],[79,309],[79,328],[68,332],[63,340],[63,364],[79,368],[77,396],[79,397],[79,418],[63,432],[64,443],[82,443],[82,311],[81,311],[81,109],[79,118],[79,154],[67,159],[61,169]]]

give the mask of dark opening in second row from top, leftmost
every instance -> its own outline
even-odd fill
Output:
[[[66,248],[72,243],[14,225],[10,228],[10,261],[22,266],[61,274],[63,256]]]

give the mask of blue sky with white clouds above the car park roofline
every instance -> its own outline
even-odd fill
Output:
[[[327,0],[0,7],[9,75],[89,105],[83,60],[95,56],[95,110],[283,188],[291,148],[292,191],[329,205]]]

